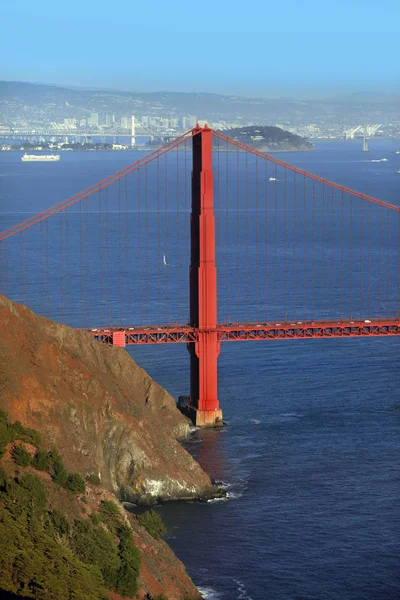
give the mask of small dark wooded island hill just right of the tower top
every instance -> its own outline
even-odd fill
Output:
[[[285,131],[280,127],[254,125],[251,127],[236,127],[223,133],[262,152],[290,152],[314,149],[314,146],[305,138]]]

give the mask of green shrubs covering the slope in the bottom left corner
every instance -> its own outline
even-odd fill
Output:
[[[19,428],[8,423],[4,413],[0,423],[2,434],[8,436],[3,441],[19,439]],[[40,442],[35,434],[24,430],[21,441],[29,437],[29,443]],[[14,444],[11,454],[19,466],[23,462],[47,470],[53,483],[46,485],[85,491],[82,477],[68,474],[56,451],[38,448],[31,460],[22,445]],[[41,600],[101,600],[107,590],[133,597],[139,569],[140,553],[114,502],[102,502],[90,519],[71,522],[62,511],[50,509],[46,488],[36,475],[23,472],[12,477],[0,467],[0,590]]]

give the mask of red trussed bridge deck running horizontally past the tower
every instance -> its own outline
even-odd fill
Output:
[[[98,327],[85,329],[95,339],[111,346],[137,344],[193,343],[202,334],[190,325]],[[217,326],[220,342],[254,340],[303,340],[348,337],[390,337],[400,335],[400,318],[354,321],[297,321],[281,323],[225,323]]]

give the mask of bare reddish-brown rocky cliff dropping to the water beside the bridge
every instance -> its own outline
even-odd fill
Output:
[[[215,493],[178,441],[189,423],[125,350],[1,295],[0,326],[0,407],[56,445],[69,469],[99,473],[142,504]]]

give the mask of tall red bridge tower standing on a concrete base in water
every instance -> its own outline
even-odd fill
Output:
[[[200,128],[199,128],[200,129]],[[190,324],[199,330],[190,353],[189,416],[199,427],[222,425],[218,402],[217,270],[215,267],[212,131],[193,135]]]

